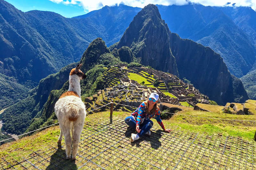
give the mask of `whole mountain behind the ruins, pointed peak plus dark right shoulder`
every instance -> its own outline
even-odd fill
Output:
[[[231,77],[220,55],[209,47],[171,33],[156,5],[145,6],[111,49],[122,46],[128,46],[135,57],[141,57],[143,65],[180,75],[181,79],[186,77],[220,105],[249,99],[242,82]]]

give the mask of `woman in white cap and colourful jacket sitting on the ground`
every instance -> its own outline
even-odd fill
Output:
[[[131,142],[138,140],[144,134],[151,135],[150,128],[152,128],[153,122],[150,119],[154,116],[156,116],[156,121],[164,131],[171,131],[171,129],[164,128],[164,124],[160,118],[160,109],[156,105],[158,97],[157,93],[151,93],[148,100],[143,101],[131,116],[125,118],[125,123],[135,128],[138,132],[137,134],[132,133]]]

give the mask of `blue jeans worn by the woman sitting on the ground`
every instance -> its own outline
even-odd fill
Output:
[[[132,116],[128,116],[125,118],[125,123],[128,124],[131,128],[136,128],[136,121],[133,119]],[[153,127],[153,122],[148,119],[148,120],[144,120],[144,122],[142,124],[139,125],[140,128],[140,133],[138,133],[137,135],[139,135],[139,137],[141,137],[142,135],[144,135],[145,133],[147,133],[147,131],[149,129],[151,129]]]

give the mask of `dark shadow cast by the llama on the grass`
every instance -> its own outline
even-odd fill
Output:
[[[66,159],[66,151],[61,148],[58,144],[58,149],[51,156],[50,165],[46,167],[46,170],[76,170],[76,161],[71,159]]]

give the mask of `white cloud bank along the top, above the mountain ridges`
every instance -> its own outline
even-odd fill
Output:
[[[236,3],[235,6],[250,6],[256,10],[256,0],[50,0],[54,3],[63,4],[78,4],[83,6],[85,11],[93,11],[102,8],[105,5],[113,6],[123,3],[128,6],[143,8],[148,4],[162,4],[162,5],[184,5],[188,2],[199,3],[205,6],[224,6],[228,2],[228,6]],[[238,2],[237,2],[238,1]]]

